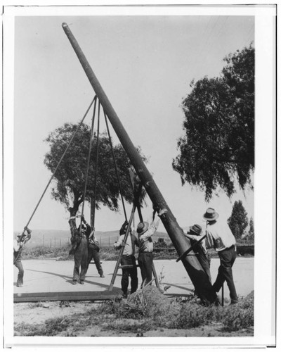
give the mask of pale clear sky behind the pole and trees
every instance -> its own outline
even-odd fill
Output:
[[[181,185],[172,170],[177,139],[183,135],[181,102],[190,82],[220,75],[223,58],[254,44],[254,16],[239,15],[85,15],[16,16],[13,116],[13,225],[20,231],[30,219],[51,177],[44,166],[44,139],[65,122],[79,122],[93,98],[62,23],[81,46],[93,72],[135,146],[149,158],[148,170],[181,227],[202,225],[207,207],[227,219],[241,200],[254,216],[254,192],[237,189],[232,199]],[[90,123],[91,114],[86,118]],[[105,130],[105,125],[101,125]],[[111,128],[112,137],[117,137]],[[150,199],[144,218],[152,211]],[[129,214],[131,206],[126,204]],[[85,210],[89,219],[89,207]],[[51,187],[30,227],[67,230],[69,213],[51,199]],[[124,221],[106,208],[96,212],[96,230],[117,230]],[[164,231],[159,225],[159,231]]]

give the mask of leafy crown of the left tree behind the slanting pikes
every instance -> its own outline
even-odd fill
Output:
[[[50,151],[45,155],[44,164],[51,172],[54,172],[57,167],[58,161],[63,155],[75,130],[77,130],[77,125],[65,123],[62,127],[58,127],[51,132],[46,138],[46,142],[50,146]],[[53,177],[51,196],[56,201],[60,201],[60,203],[70,211],[70,216],[77,214],[79,206],[83,202],[90,136],[91,128],[86,124],[82,124]],[[96,142],[97,136],[94,134],[85,196],[85,200],[89,202],[91,199],[94,199],[95,196]],[[129,179],[131,163],[120,144],[113,146],[113,150],[122,187],[122,194],[124,199],[131,203],[133,201],[131,181]],[[146,161],[144,156],[142,156],[142,158]],[[119,210],[119,196],[119,184],[115,172],[115,163],[112,158],[112,149],[107,134],[102,133],[99,136],[98,144],[96,209],[99,209],[100,205],[103,205],[110,208],[110,210]]]

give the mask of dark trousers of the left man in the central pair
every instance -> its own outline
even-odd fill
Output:
[[[123,294],[127,294],[129,277],[131,277],[131,294],[138,289],[138,271],[136,268],[136,258],[134,256],[122,256],[121,265],[134,265],[134,268],[122,269],[121,289]]]

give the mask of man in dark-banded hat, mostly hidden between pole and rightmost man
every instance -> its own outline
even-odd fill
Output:
[[[188,239],[190,239],[192,246],[195,246],[193,248],[193,251],[196,253],[199,263],[204,269],[204,272],[206,272],[206,274],[208,275],[209,281],[211,282],[211,258],[206,248],[206,239],[203,239],[204,234],[202,233],[202,227],[197,224],[190,226],[187,234],[185,234],[185,237],[188,237]],[[196,244],[197,241],[200,241],[200,243]]]

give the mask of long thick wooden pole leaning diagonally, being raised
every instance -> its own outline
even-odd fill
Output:
[[[150,172],[146,168],[145,163],[143,163],[141,156],[131,142],[131,139],[124,129],[122,122],[119,120],[117,113],[115,113],[115,110],[113,109],[105,92],[103,91],[100,82],[98,82],[98,79],[93,73],[89,62],[84,56],[84,53],[81,51],[77,40],[74,38],[74,35],[66,23],[63,23],[63,30],[65,31],[67,38],[70,40],[70,44],[77,54],[77,57],[79,58],[79,61],[91,83],[91,86],[93,87],[93,90],[96,92],[96,95],[98,96],[98,99],[103,106],[107,118],[110,120],[110,123],[114,128],[120,143],[129,156],[129,159],[135,168],[136,173],[140,178],[141,183],[143,184],[143,187],[145,187],[145,190],[147,191],[152,203],[159,209],[167,209],[167,213],[162,215],[161,220],[164,224],[166,232],[169,234],[169,237],[174,244],[176,251],[178,252],[178,256],[181,258],[185,270],[188,272],[188,275],[195,287],[195,290],[197,291],[197,294],[200,296],[202,301],[206,303],[214,303],[216,300],[216,292],[211,286],[211,282],[209,282],[208,276],[204,272],[196,256],[192,251],[190,256],[185,256],[185,252],[190,249],[190,241],[185,237],[183,230],[178,225],[178,222],[176,222],[176,218],[174,217],[173,213],[171,213],[169,206],[164,200],[164,197],[152,179],[152,175],[150,175]]]

